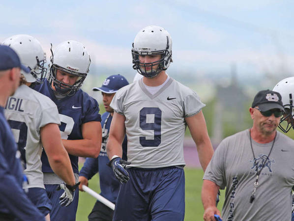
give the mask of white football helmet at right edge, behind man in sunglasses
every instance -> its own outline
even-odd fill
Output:
[[[282,96],[286,116],[281,117],[279,128],[287,133],[291,128],[294,128],[294,77],[283,79],[272,90],[279,92]],[[287,126],[283,126],[286,125],[284,121],[288,123]]]

